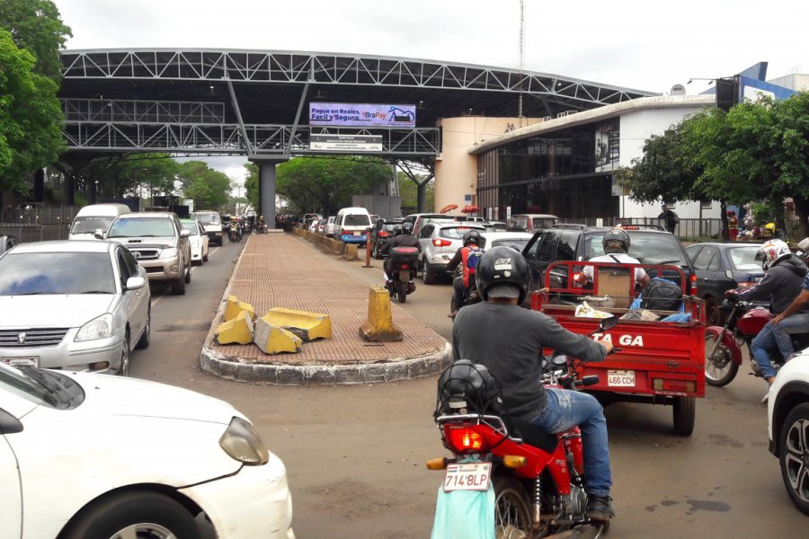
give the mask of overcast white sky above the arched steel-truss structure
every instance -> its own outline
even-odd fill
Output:
[[[67,49],[297,50],[501,67],[520,61],[519,0],[53,2],[73,31]],[[805,0],[524,4],[529,71],[660,93],[759,61],[769,62],[768,78],[809,73]],[[698,93],[707,82],[686,88]]]

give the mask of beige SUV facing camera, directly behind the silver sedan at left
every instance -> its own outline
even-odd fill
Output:
[[[210,237],[209,229],[206,233]],[[129,248],[149,280],[170,281],[178,295],[185,294],[185,285],[191,282],[190,235],[175,214],[148,211],[116,217],[107,233]]]

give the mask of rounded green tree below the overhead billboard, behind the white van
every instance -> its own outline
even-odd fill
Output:
[[[276,191],[303,211],[336,215],[351,197],[390,179],[390,164],[370,157],[298,157],[278,166]],[[252,190],[250,192],[253,192]]]

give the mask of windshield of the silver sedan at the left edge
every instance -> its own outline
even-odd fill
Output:
[[[106,252],[10,252],[0,259],[0,296],[115,292]]]

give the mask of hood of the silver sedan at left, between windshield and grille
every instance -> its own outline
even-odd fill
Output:
[[[111,311],[114,294],[0,296],[0,328],[75,328]]]

